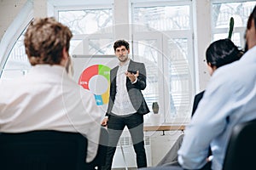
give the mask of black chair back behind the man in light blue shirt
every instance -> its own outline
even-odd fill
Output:
[[[256,120],[236,125],[230,136],[223,170],[256,169]]]

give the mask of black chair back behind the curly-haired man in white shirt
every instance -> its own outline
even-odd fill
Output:
[[[3,170],[84,170],[87,139],[80,133],[0,133]]]

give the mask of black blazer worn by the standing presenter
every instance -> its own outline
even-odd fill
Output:
[[[110,71],[110,93],[106,116],[111,114],[113,108],[116,94],[116,75],[118,69],[119,66],[116,66]],[[145,65],[143,63],[138,63],[130,60],[130,64],[128,65],[128,71],[139,71],[137,82],[134,84],[131,84],[130,79],[126,77],[126,89],[131,99],[131,104],[133,105],[137,113],[143,115],[147,114],[149,112],[149,109],[142,93],[142,90],[145,89],[147,86]]]

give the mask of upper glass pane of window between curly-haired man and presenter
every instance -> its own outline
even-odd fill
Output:
[[[68,26],[74,35],[91,34],[113,26],[112,13],[110,8],[59,11],[59,20]],[[103,31],[111,32],[112,29],[103,29]]]

